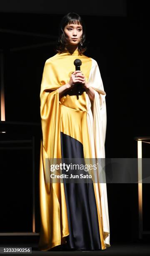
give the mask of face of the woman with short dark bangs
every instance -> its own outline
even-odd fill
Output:
[[[82,26],[80,24],[67,24],[64,33],[68,44],[77,45],[82,37]]]

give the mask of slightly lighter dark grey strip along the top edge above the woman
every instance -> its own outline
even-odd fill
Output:
[[[126,0],[82,0],[72,4],[69,0],[51,2],[50,0],[1,0],[1,12],[13,13],[49,13],[64,14],[69,12],[80,15],[125,16]]]

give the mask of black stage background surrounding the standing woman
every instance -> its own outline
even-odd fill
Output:
[[[81,1],[80,5],[73,8],[69,1],[63,5],[53,3],[53,7],[49,1],[19,2],[1,1],[0,6],[5,115],[6,121],[37,125],[35,196],[36,232],[39,232],[40,83],[46,59],[56,54],[54,49],[60,19],[67,12],[73,11],[82,15],[85,20],[89,42],[85,55],[97,61],[107,94],[106,157],[136,158],[137,141],[134,137],[150,135],[147,83],[143,78],[143,51],[146,45],[141,40],[146,32],[143,26],[144,4],[125,0],[95,0],[91,2],[92,5]],[[18,132],[16,131],[15,136]],[[28,137],[29,134],[25,130],[23,136]],[[149,152],[149,145],[144,145],[143,157],[149,157]],[[5,151],[1,155],[4,163],[1,164],[1,176],[7,180],[8,186],[2,182],[2,202],[5,207],[1,212],[0,232],[32,231],[32,166],[29,167],[31,164],[27,159],[31,156],[28,154]],[[7,159],[11,160],[11,176]],[[150,229],[147,205],[149,195],[149,184],[144,184],[144,230]],[[107,184],[107,196],[110,244],[113,241],[137,240],[138,184]]]

